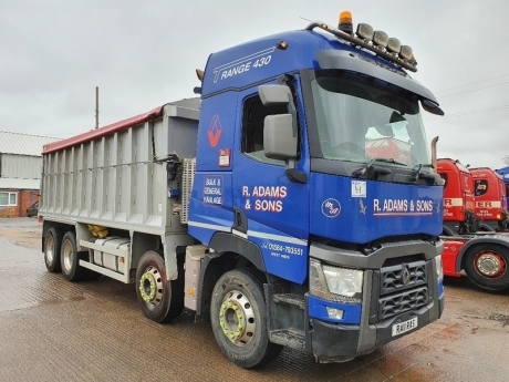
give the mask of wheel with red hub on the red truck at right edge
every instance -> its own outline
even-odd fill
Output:
[[[472,246],[465,254],[465,272],[480,288],[509,288],[509,248],[490,242]]]

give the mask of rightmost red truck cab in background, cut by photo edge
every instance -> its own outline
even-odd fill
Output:
[[[476,214],[482,219],[481,230],[508,229],[506,184],[501,175],[488,167],[470,168],[474,179]]]

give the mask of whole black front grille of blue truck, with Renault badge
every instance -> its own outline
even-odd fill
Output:
[[[417,260],[383,267],[375,272],[370,323],[426,306],[429,269],[426,261]]]

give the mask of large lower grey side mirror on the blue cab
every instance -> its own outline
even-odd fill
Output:
[[[293,159],[297,157],[297,135],[293,134],[293,116],[278,114],[266,116],[263,124],[263,148],[272,159]]]

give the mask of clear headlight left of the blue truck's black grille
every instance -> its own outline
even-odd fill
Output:
[[[325,266],[310,259],[310,292],[332,301],[360,302],[364,273],[361,270]]]

